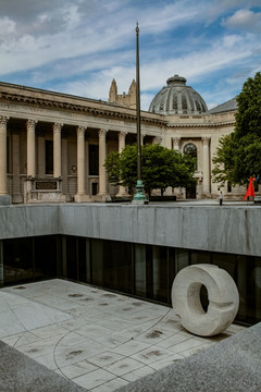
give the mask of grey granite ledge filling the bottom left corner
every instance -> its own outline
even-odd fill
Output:
[[[0,341],[1,392],[86,392]]]

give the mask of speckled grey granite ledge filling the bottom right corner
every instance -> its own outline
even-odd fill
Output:
[[[116,392],[261,391],[261,323]]]

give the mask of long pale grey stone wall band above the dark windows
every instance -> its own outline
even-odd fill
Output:
[[[260,218],[259,206],[4,206],[0,238],[69,234],[261,256]]]

